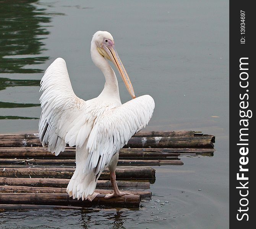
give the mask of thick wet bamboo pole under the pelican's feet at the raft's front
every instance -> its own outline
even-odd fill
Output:
[[[90,202],[69,197],[67,193],[0,193],[0,204],[72,205],[72,206],[134,206],[139,207],[139,195],[104,198],[99,194]]]

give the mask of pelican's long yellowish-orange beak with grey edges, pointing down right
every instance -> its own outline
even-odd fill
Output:
[[[103,54],[103,56],[105,56],[105,58],[107,58],[108,60],[110,60],[114,63],[114,65],[116,66],[117,70],[119,71],[119,73],[123,79],[123,82],[125,83],[125,86],[126,86],[128,92],[130,93],[132,98],[135,98],[133,85],[131,84],[129,76],[125,71],[125,67],[123,66],[123,63],[120,60],[120,58],[117,54],[117,51],[115,50],[115,45],[113,43],[111,43],[109,45],[102,45],[102,48],[99,48],[99,49],[102,52],[102,53],[100,53],[101,55]],[[99,49],[98,49],[98,51],[99,51]]]

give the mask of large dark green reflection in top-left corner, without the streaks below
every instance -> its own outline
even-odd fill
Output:
[[[2,73],[41,73],[42,69],[23,68],[25,65],[44,63],[49,56],[40,55],[44,50],[42,39],[48,35],[42,23],[49,23],[50,17],[44,9],[37,9],[28,1],[0,1],[0,71]],[[40,37],[39,37],[40,35]]]

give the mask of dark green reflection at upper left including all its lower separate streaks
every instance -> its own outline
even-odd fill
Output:
[[[51,16],[44,8],[38,9],[34,3],[27,1],[0,1],[0,90],[15,86],[39,86],[40,80],[9,79],[6,73],[42,73],[34,65],[42,64],[49,59],[44,56],[43,39],[49,34],[47,23]],[[34,66],[34,67],[33,67]],[[31,77],[31,76],[30,76]],[[29,88],[28,88],[29,89]],[[4,100],[4,98],[1,98]],[[26,101],[27,102],[27,101]],[[0,102],[0,108],[27,108],[39,106],[37,103]],[[37,119],[17,116],[15,110],[0,119]]]

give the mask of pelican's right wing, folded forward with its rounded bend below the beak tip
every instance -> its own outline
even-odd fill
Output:
[[[155,103],[150,95],[134,98],[107,111],[92,128],[87,142],[89,156],[84,173],[100,174],[111,158],[152,117]]]

